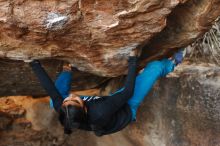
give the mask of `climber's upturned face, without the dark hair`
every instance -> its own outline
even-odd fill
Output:
[[[84,108],[84,101],[75,94],[70,94],[65,100],[63,101],[62,106],[68,106],[68,105],[73,105],[77,107]]]

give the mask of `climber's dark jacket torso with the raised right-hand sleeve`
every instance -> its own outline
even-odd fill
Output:
[[[87,122],[79,129],[94,131],[97,136],[115,133],[125,128],[132,120],[127,101],[132,97],[136,78],[136,57],[129,58],[128,75],[124,90],[112,96],[103,96],[95,100],[85,100]]]

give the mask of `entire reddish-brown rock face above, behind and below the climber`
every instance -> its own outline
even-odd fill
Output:
[[[80,70],[73,90],[106,94],[123,78],[98,76],[124,75],[132,49],[144,46],[140,67],[170,56],[210,28],[219,6],[219,0],[1,0],[0,96],[45,95],[22,61],[29,59],[41,59],[52,79],[71,62]],[[101,138],[64,135],[48,97],[1,97],[0,146],[219,146],[219,73],[208,63],[179,66],[157,82],[137,122]]]

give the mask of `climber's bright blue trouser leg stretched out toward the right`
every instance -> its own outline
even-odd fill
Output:
[[[144,71],[136,77],[133,96],[128,100],[132,111],[132,119],[136,119],[136,111],[154,83],[174,70],[174,63],[168,59],[153,61],[147,64]]]

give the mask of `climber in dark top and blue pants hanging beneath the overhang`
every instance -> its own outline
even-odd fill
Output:
[[[150,62],[136,77],[137,57],[132,51],[125,86],[109,96],[69,94],[72,71],[71,66],[64,66],[64,71],[55,82],[59,93],[55,94],[56,97],[51,97],[52,105],[59,113],[59,121],[64,126],[64,132],[70,134],[73,129],[82,129],[94,131],[97,136],[102,136],[122,130],[136,120],[137,108],[156,80],[172,72],[182,59],[183,53],[180,51],[173,59]],[[33,61],[31,64],[33,67],[35,64],[39,65],[39,62]],[[61,98],[57,102],[56,98],[59,95],[62,97],[62,103]]]

